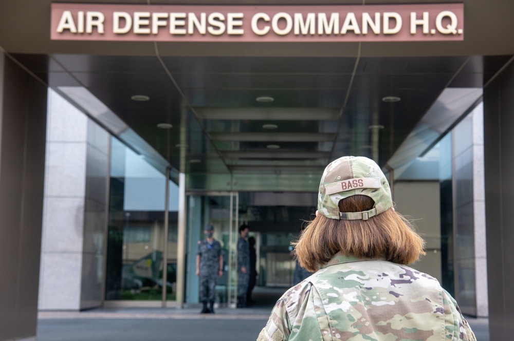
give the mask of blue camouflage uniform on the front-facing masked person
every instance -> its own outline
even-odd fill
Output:
[[[200,301],[214,302],[222,246],[217,240],[213,240],[210,244],[204,239],[198,241],[196,254],[200,256]]]

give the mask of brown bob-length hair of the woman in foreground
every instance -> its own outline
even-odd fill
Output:
[[[339,201],[340,212],[371,210],[373,199],[354,195]],[[339,251],[357,258],[383,257],[410,264],[424,255],[424,240],[413,226],[392,208],[368,220],[337,220],[319,214],[293,243],[300,265],[318,271]]]

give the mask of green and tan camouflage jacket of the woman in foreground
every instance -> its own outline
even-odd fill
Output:
[[[277,301],[261,340],[476,341],[435,278],[340,253]]]

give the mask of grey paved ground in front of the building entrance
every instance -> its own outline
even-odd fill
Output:
[[[252,308],[119,308],[40,312],[38,341],[241,341],[255,340],[282,289],[256,291]],[[478,341],[489,341],[487,318],[468,318]]]

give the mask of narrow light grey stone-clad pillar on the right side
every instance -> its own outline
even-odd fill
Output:
[[[455,295],[461,311],[488,316],[483,106],[453,130]]]

